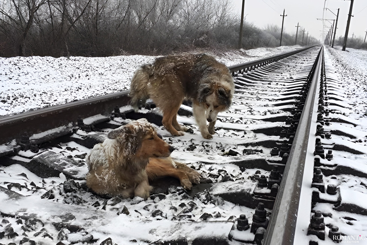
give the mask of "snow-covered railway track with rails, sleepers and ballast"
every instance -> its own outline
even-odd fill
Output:
[[[365,244],[366,133],[345,116],[352,108],[324,53],[230,66],[236,92],[213,140],[189,102],[177,120],[193,133],[172,137],[155,105],[135,113],[126,91],[0,118],[0,244]],[[200,184],[158,180],[148,200],[88,190],[87,152],[138,118]]]

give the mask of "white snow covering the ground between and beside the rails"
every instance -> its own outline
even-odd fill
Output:
[[[254,50],[239,50],[230,51],[222,55],[216,55],[219,61],[226,65],[239,64],[251,60],[257,60],[270,55],[291,51],[300,46],[278,47],[278,48],[257,48]],[[364,154],[354,156],[344,151],[333,151],[335,162],[341,165],[347,165],[355,168],[361,172],[366,171],[366,131],[367,131],[367,104],[366,104],[366,71],[367,71],[367,51],[348,49],[348,52],[342,52],[333,49],[327,49],[326,62],[335,67],[335,71],[328,74],[333,74],[335,81],[328,81],[333,84],[333,89],[329,89],[329,102],[343,105],[346,108],[338,105],[330,105],[329,109],[333,111],[330,113],[330,118],[340,118],[346,121],[353,122],[356,126],[342,123],[343,127],[339,127],[340,123],[332,122],[330,127],[324,126],[325,130],[333,129],[344,131],[361,139],[361,142],[355,142],[356,139],[351,139],[345,136],[333,135],[329,141],[323,142],[348,144],[350,147],[359,148]],[[93,96],[104,95],[116,91],[126,90],[129,88],[130,78],[138,65],[151,62],[155,57],[132,55],[132,56],[117,56],[117,57],[70,57],[70,58],[52,58],[52,57],[14,57],[14,58],[0,58],[0,116],[12,115],[22,111],[29,111],[32,109],[49,107],[52,105],[63,104],[65,102],[80,100]],[[357,65],[357,68],[353,65]],[[246,156],[246,159],[257,159],[269,155],[269,149],[261,146],[261,141],[279,140],[279,137],[266,136],[261,133],[253,133],[251,130],[258,130],[269,127],[281,127],[283,123],[279,122],[257,122],[259,115],[266,115],[268,117],[287,115],[280,111],[282,108],[291,107],[290,105],[276,106],[280,103],[293,102],[294,96],[281,95],[279,91],[284,88],[282,80],[287,80],[287,74],[283,74],[279,78],[279,82],[267,84],[264,83],[261,89],[253,89],[248,86],[251,85],[251,80],[246,80],[247,92],[245,94],[235,94],[234,105],[228,112],[219,114],[222,122],[217,122],[217,126],[221,127],[215,134],[211,141],[203,142],[200,133],[197,131],[197,126],[192,118],[178,116],[180,123],[194,123],[189,125],[193,127],[194,134],[185,134],[184,136],[172,137],[163,127],[159,127],[157,131],[163,135],[164,140],[168,141],[171,138],[171,143],[178,148],[172,153],[172,158],[180,162],[188,163],[196,169],[200,167],[200,172],[205,176],[212,173],[219,173],[220,170],[226,170],[228,174],[233,177],[236,182],[228,181],[224,183],[215,183],[212,191],[215,193],[222,193],[228,191],[229,188],[254,188],[256,183],[250,179],[249,176],[255,174],[257,169],[246,169],[243,172],[240,167],[232,164],[230,161],[241,159],[243,150],[247,148],[246,145],[254,144],[252,149],[257,149],[253,155]],[[296,84],[296,83],[295,83]],[[260,86],[257,86],[260,87]],[[283,99],[278,101],[279,98]],[[287,99],[287,100],[286,100]],[[275,106],[274,106],[275,105]],[[241,112],[241,115],[237,112]],[[281,113],[280,113],[281,112]],[[274,114],[274,115],[273,115]],[[103,119],[102,116],[90,118],[93,123],[97,119]],[[119,118],[114,119],[115,122],[120,122]],[[86,122],[86,121],[85,121]],[[240,123],[238,123],[240,122]],[[95,132],[86,133],[82,130],[77,130],[73,135],[75,138],[85,138],[95,134]],[[35,138],[41,137],[43,134],[33,136]],[[314,137],[315,138],[315,137]],[[314,145],[315,139],[310,140],[311,145]],[[236,143],[234,143],[236,141]],[[347,142],[348,143],[345,143]],[[197,148],[193,151],[186,151],[188,144],[194,143]],[[357,145],[357,146],[356,146]],[[236,148],[233,148],[236,146]],[[1,146],[0,146],[1,147]],[[66,147],[75,149],[66,149]],[[229,149],[238,151],[238,156],[228,158],[223,152],[217,149],[224,149],[228,152]],[[71,156],[75,158],[77,155],[87,154],[90,149],[83,147],[75,142],[61,144],[60,148],[53,147],[51,151],[61,154],[65,157]],[[260,152],[264,151],[264,153]],[[265,153],[265,151],[267,151]],[[313,153],[313,151],[312,151]],[[12,156],[12,159],[20,159],[23,162],[30,161],[26,157],[33,156],[29,151],[22,152],[21,156]],[[312,155],[313,159],[313,155]],[[202,162],[210,163],[203,164]],[[327,160],[322,160],[327,161]],[[76,171],[79,177],[85,176],[87,173],[87,166],[68,166],[68,171]],[[308,171],[312,175],[312,169]],[[24,173],[27,177],[19,175]],[[269,175],[269,172],[260,170],[260,174]],[[367,195],[367,188],[361,183],[367,184],[367,179],[348,175],[324,176],[326,185],[328,183],[337,184],[341,187],[342,196],[350,197],[354,195],[353,203],[361,205],[361,202],[367,203],[365,199]],[[222,176],[219,176],[216,181],[220,181]],[[209,178],[210,179],[210,178]],[[28,169],[21,165],[13,164],[5,167],[0,166],[0,186],[8,188],[8,183],[18,183],[27,188],[11,187],[11,191],[25,195],[26,197],[19,197],[18,199],[7,200],[8,196],[0,191],[0,202],[6,205],[0,205],[0,212],[12,213],[14,215],[25,216],[34,213],[42,220],[46,220],[45,227],[49,234],[57,236],[58,231],[55,230],[52,222],[61,222],[70,213],[75,213],[75,205],[71,203],[66,205],[65,193],[63,190],[63,183],[66,180],[64,174],[59,177],[50,177],[42,179]],[[312,178],[305,180],[304,183],[310,184]],[[30,183],[36,183],[37,188]],[[81,185],[85,184],[84,180],[76,181]],[[231,185],[235,183],[235,185]],[[52,190],[55,194],[53,201],[41,199],[41,195],[47,191]],[[312,191],[311,188],[308,189]],[[352,190],[352,192],[348,192]],[[230,228],[233,225],[233,220],[228,220],[232,215],[239,217],[240,214],[246,214],[249,223],[252,221],[253,209],[244,206],[235,205],[223,200],[215,200],[212,203],[204,203],[199,199],[183,199],[177,193],[169,193],[165,199],[158,201],[147,199],[145,201],[138,199],[124,199],[115,206],[107,205],[107,210],[103,210],[102,206],[93,206],[96,201],[101,199],[96,198],[90,192],[79,190],[77,197],[83,198],[86,201],[83,205],[78,205],[78,217],[74,219],[73,224],[80,225],[85,228],[89,234],[93,234],[94,239],[99,239],[95,244],[100,244],[104,239],[111,237],[114,243],[117,244],[137,244],[132,239],[137,239],[139,244],[147,244],[144,241],[157,241],[164,238],[177,239],[185,237],[188,241],[203,234],[213,234],[215,236],[225,237],[228,235]],[[311,192],[309,192],[310,195]],[[349,193],[349,194],[348,194]],[[70,193],[68,193],[70,194]],[[356,194],[356,195],[355,195]],[[363,195],[360,195],[363,194]],[[29,197],[27,197],[30,195]],[[70,194],[70,198],[73,197]],[[343,197],[342,197],[343,198]],[[352,200],[352,199],[351,199]],[[190,201],[195,201],[197,209],[194,209],[190,214],[193,215],[190,219],[183,219],[182,221],[172,221],[170,218],[177,216],[183,211],[179,208],[181,203],[186,206]],[[32,205],[30,205],[32,203]],[[305,201],[302,206],[302,215],[306,217],[302,228],[306,228],[309,222],[310,202]],[[129,215],[116,215],[116,213],[126,206],[130,212]],[[148,207],[147,207],[148,206]],[[178,207],[177,212],[170,209],[170,207]],[[363,204],[363,206],[365,206]],[[145,209],[145,207],[147,207]],[[147,210],[148,209],[148,210]],[[363,215],[356,215],[347,212],[337,212],[332,205],[327,203],[317,203],[315,210],[323,210],[323,212],[333,213],[333,217],[325,217],[325,223],[332,223],[339,227],[339,229],[348,235],[356,235],[357,232],[366,230],[367,218]],[[25,214],[27,210],[28,214]],[[135,211],[136,210],[136,211]],[[164,217],[152,217],[153,210],[161,210]],[[305,210],[308,210],[306,212]],[[221,217],[209,218],[212,222],[200,222],[199,217],[202,213],[210,214],[221,213]],[[350,226],[346,224],[348,220],[344,217],[353,217],[356,221]],[[16,224],[16,218],[7,217],[11,223],[14,231],[22,234],[21,224]],[[197,221],[197,222],[193,222]],[[137,228],[138,227],[138,228]],[[158,228],[157,228],[158,227]],[[4,227],[0,227],[0,232]],[[328,228],[327,232],[328,232]],[[167,234],[167,231],[170,231]],[[305,239],[305,231],[302,231],[301,238],[298,241],[303,241],[308,244],[309,237]],[[326,232],[326,234],[327,234]],[[51,241],[50,238],[43,238],[41,236],[33,237],[33,233],[28,233],[36,241],[36,244],[55,244],[56,241]],[[73,234],[77,236],[80,234]],[[14,240],[15,239],[15,240]],[[8,244],[9,242],[19,243],[18,238],[8,239],[5,237],[1,243]],[[149,243],[149,242],[148,242]],[[233,242],[232,242],[233,243]],[[231,244],[232,244],[231,243]],[[81,244],[81,243],[80,243]],[[235,244],[235,243],[233,243]],[[334,244],[331,241],[325,241],[323,244]],[[321,243],[320,243],[321,245]]]

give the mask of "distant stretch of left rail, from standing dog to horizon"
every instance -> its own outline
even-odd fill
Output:
[[[246,70],[246,69],[247,70],[252,69],[252,68],[255,68],[255,67],[261,67],[263,65],[266,65],[266,64],[269,64],[269,63],[272,63],[272,62],[290,57],[292,55],[298,54],[302,51],[308,50],[310,48],[313,48],[313,47],[316,47],[316,46],[319,46],[319,45],[320,44],[316,44],[316,45],[308,46],[308,47],[305,47],[305,48],[300,48],[300,49],[297,49],[297,50],[294,50],[294,51],[289,51],[289,52],[286,52],[286,53],[281,53],[281,54],[269,56],[269,57],[262,58],[262,59],[259,59],[259,60],[255,60],[255,61],[249,61],[249,62],[245,62],[245,63],[238,64],[238,65],[231,65],[231,66],[228,66],[228,69],[229,69],[229,72],[233,73],[233,72],[243,71],[243,70]]]

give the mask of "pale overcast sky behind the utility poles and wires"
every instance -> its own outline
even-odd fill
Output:
[[[235,11],[241,14],[242,0],[232,0]],[[259,28],[264,28],[267,24],[276,24],[281,27],[283,9],[286,10],[284,17],[284,28],[287,33],[295,33],[297,30],[297,22],[300,28],[305,28],[315,38],[322,39],[323,21],[322,19],[336,19],[336,16],[329,10],[323,11],[324,4],[335,14],[339,11],[339,19],[337,25],[337,35],[344,36],[346,22],[348,19],[350,0],[245,0],[245,16],[246,20],[253,22]],[[352,34],[364,39],[367,30],[367,1],[354,0],[353,11],[350,21],[348,38],[352,38]],[[332,24],[324,21],[329,28]],[[324,28],[324,35],[327,35],[329,29]],[[336,38],[336,37],[335,37]]]

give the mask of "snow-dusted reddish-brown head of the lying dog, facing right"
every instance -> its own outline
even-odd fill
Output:
[[[174,147],[162,140],[155,128],[145,119],[138,119],[127,125],[110,131],[109,139],[120,144],[120,151],[125,157],[134,158],[167,157]]]

